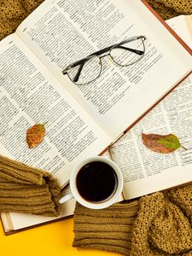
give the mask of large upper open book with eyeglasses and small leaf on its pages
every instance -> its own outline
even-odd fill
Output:
[[[146,37],[146,52],[134,66],[105,59],[101,77],[84,86],[63,76],[73,61],[135,35]],[[79,160],[101,154],[190,73],[182,44],[141,1],[45,1],[0,42],[0,153],[64,186]],[[44,143],[28,149],[27,128],[46,121]],[[6,219],[16,230],[24,218],[15,228],[14,215]]]

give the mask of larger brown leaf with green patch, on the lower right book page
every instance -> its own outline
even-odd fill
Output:
[[[158,135],[158,134],[144,134],[142,133],[143,144],[158,153],[172,153],[177,148],[181,147],[177,136],[174,134]]]

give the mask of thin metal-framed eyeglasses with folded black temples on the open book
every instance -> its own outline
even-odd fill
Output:
[[[119,44],[113,44],[105,49],[96,51],[84,59],[68,65],[63,74],[78,85],[95,81],[102,73],[102,58],[110,56],[121,67],[127,67],[143,58],[145,53],[144,36],[128,38]]]

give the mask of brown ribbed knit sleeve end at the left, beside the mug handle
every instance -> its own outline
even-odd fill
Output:
[[[48,172],[0,155],[0,212],[58,216],[60,187]]]

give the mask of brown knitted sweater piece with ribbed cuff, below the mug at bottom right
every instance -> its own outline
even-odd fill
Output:
[[[73,246],[129,256],[191,256],[191,199],[192,184],[99,211],[77,204]]]

